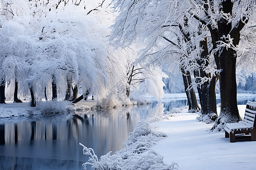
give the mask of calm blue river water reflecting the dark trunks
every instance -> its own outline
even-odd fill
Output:
[[[240,99],[238,104],[246,104]],[[148,105],[74,111],[55,116],[16,118],[0,122],[0,169],[82,169],[87,156],[79,143],[98,158],[123,148],[139,120],[157,116],[187,100],[154,101]]]

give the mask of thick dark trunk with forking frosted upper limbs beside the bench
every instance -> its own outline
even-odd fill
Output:
[[[203,1],[192,3],[187,11],[208,27],[214,59],[220,70],[221,112],[213,129],[222,129],[226,122],[240,121],[237,109],[236,63],[237,46],[243,27],[252,20],[256,1]]]

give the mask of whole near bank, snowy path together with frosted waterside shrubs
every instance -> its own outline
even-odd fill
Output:
[[[245,107],[238,106],[241,117]],[[255,169],[256,142],[230,143],[223,131],[210,131],[213,124],[197,121],[198,116],[183,107],[143,120],[130,133],[123,150],[90,163],[103,169]],[[159,162],[152,161],[156,158]]]

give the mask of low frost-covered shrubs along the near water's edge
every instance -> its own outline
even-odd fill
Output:
[[[102,155],[100,160],[92,148],[80,143],[84,154],[90,156],[88,162],[83,164],[84,169],[87,165],[91,165],[92,169],[177,169],[177,164],[165,164],[162,156],[150,150],[156,141],[166,137],[166,134],[152,130],[150,122],[156,120],[148,118],[140,121],[124,143],[125,148],[113,155],[110,152]]]

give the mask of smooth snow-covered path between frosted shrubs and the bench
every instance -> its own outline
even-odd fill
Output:
[[[245,105],[239,109],[244,114]],[[223,131],[209,131],[212,124],[197,121],[197,116],[184,110],[169,120],[155,122],[167,138],[151,149],[162,155],[166,164],[177,163],[180,169],[256,169],[256,142],[230,143]]]

